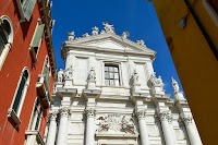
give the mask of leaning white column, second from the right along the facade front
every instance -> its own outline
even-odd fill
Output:
[[[171,134],[171,129],[168,123],[169,113],[167,111],[162,111],[162,112],[159,112],[158,116],[161,122],[166,145],[174,145],[172,134]]]

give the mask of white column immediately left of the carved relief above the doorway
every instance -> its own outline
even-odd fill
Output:
[[[86,134],[85,134],[85,145],[95,144],[95,112],[94,108],[88,108],[85,110],[86,113]]]

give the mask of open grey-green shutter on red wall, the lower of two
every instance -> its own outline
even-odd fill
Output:
[[[36,53],[38,51],[38,46],[40,44],[40,39],[43,37],[43,34],[44,34],[44,27],[45,27],[45,24],[38,24],[36,33],[34,35],[34,39],[32,41],[32,47],[35,48]]]

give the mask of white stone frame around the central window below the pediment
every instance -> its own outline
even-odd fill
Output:
[[[116,68],[118,68],[118,80],[119,80],[119,85],[118,86],[116,86],[116,85],[106,85],[106,76],[105,76],[106,70],[105,70],[105,67],[116,67]],[[123,84],[122,84],[122,75],[121,75],[121,64],[120,63],[118,63],[118,62],[104,62],[104,65],[102,65],[102,84],[105,86],[110,86],[110,87],[121,87],[121,86],[123,86]]]

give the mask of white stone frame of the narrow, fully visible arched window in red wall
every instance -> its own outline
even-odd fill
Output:
[[[24,88],[23,88],[23,93],[22,93],[22,96],[21,96],[21,100],[20,100],[20,105],[19,105],[19,108],[17,108],[17,111],[15,112],[15,110],[13,110],[13,105],[14,105],[14,101],[15,101],[15,98],[16,98],[16,94],[17,94],[17,90],[19,90],[19,87],[20,87],[20,84],[21,84],[21,81],[22,81],[22,76],[24,74],[24,72],[27,71],[27,74],[28,74],[28,77],[25,82],[25,85],[24,85]],[[24,104],[24,100],[25,100],[25,97],[26,97],[26,94],[27,94],[27,89],[28,89],[28,86],[29,86],[29,82],[31,82],[31,73],[28,71],[28,68],[25,67],[23,70],[22,70],[22,73],[20,75],[20,78],[19,78],[19,83],[17,83],[17,86],[16,86],[16,89],[15,89],[15,93],[14,93],[14,97],[13,97],[13,100],[12,100],[12,104],[11,104],[11,107],[10,109],[14,111],[15,116],[17,118],[20,118],[21,116],[21,111],[22,111],[22,108],[23,108],[23,104]]]

